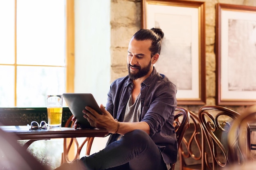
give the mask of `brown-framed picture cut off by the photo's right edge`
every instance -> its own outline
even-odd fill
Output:
[[[216,104],[256,104],[256,7],[216,4]]]

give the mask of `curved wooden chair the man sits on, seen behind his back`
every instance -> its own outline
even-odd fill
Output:
[[[187,109],[182,107],[176,107],[173,126],[175,127],[178,148],[180,148],[181,146],[182,138],[189,125],[189,119],[190,119],[190,114]],[[172,164],[171,170],[174,170],[174,168],[175,168],[175,163]]]

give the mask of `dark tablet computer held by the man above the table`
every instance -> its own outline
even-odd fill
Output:
[[[85,109],[85,106],[89,106],[99,114],[102,114],[93,95],[91,93],[63,93],[63,97],[72,115],[76,117],[80,127],[84,129],[93,129],[94,127],[90,126],[87,119],[83,117],[84,114],[82,112]]]

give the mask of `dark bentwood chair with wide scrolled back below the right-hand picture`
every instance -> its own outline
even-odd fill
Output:
[[[210,170],[218,170],[230,164],[227,135],[232,122],[240,114],[222,106],[203,106],[199,109],[199,120],[207,139],[211,157],[205,158]]]

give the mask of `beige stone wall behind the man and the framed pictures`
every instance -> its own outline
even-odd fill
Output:
[[[195,0],[191,0],[195,1]],[[206,105],[215,105],[216,96],[216,59],[215,47],[215,16],[216,4],[237,4],[256,6],[256,0],[196,0],[205,2],[205,33],[206,33]],[[128,43],[132,35],[141,26],[141,0],[111,0],[111,82],[127,75],[126,56]],[[183,106],[197,113],[201,106]],[[225,106],[241,113],[246,106]]]

